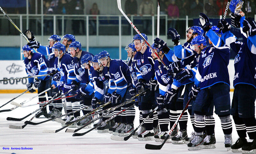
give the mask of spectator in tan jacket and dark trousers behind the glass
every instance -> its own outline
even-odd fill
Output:
[[[154,12],[155,12],[155,7],[154,4],[151,0],[143,0],[142,3],[140,4],[140,8],[139,8],[139,14],[140,16],[142,15],[151,15],[154,16]],[[151,19],[145,19],[148,17],[144,17],[142,20],[143,23],[143,33],[149,33],[149,25],[150,25],[150,21]]]

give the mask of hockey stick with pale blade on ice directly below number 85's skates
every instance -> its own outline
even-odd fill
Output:
[[[132,101],[133,101],[133,100],[132,100]],[[101,113],[104,112],[104,114],[101,115],[101,116],[99,116],[99,117],[97,117],[97,118],[94,119],[94,120],[91,120],[91,121],[87,122],[86,124],[84,124],[82,127],[78,128],[78,129],[75,129],[75,130],[74,130],[74,129],[66,129],[65,132],[67,132],[67,133],[75,133],[75,132],[77,132],[78,130],[81,130],[81,129],[83,129],[84,127],[90,125],[92,122],[95,122],[96,120],[102,118],[104,115],[107,115],[107,114],[109,114],[110,112],[114,111],[116,108],[119,108],[119,107],[121,107],[121,106],[123,106],[123,105],[125,105],[125,104],[128,104],[128,103],[131,103],[132,101],[129,101],[129,102],[125,101],[125,102],[123,102],[122,104],[119,104],[119,105],[117,105],[117,106],[115,106],[115,107],[108,108],[108,109],[105,109],[105,110],[103,110],[103,111],[100,111]],[[94,114],[93,114],[93,115],[94,115]],[[87,116],[87,117],[91,117],[91,116],[93,116],[93,115],[89,115],[89,116]]]

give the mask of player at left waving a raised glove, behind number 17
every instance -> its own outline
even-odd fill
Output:
[[[30,32],[29,30],[25,31],[26,36],[28,37],[28,39],[30,40],[30,42],[28,43],[28,45],[31,48],[36,48],[36,50],[38,51],[38,53],[41,53],[45,56],[47,56],[47,74],[49,74],[52,69],[54,68],[54,61],[55,61],[55,56],[54,53],[52,52],[52,46],[56,43],[56,42],[60,42],[60,36],[59,35],[52,35],[50,36],[50,38],[48,39],[49,41],[49,45],[48,46],[41,46],[40,42],[37,42],[35,40],[34,37],[34,33]],[[50,81],[52,80],[52,78],[50,78]],[[54,85],[55,84],[55,85]],[[56,83],[55,82],[49,82],[49,87],[52,87],[53,89],[51,89],[47,95],[48,95],[48,100],[50,100],[52,98],[52,96],[54,96],[55,94],[57,94],[57,92],[59,91],[58,88],[56,87]],[[54,101],[52,103],[49,104],[49,113],[48,113],[48,118],[53,118],[53,117],[57,117],[59,115],[61,115],[61,110],[62,110],[62,103],[61,100],[57,100]]]

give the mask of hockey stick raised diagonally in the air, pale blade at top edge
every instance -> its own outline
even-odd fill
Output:
[[[122,10],[122,6],[121,6],[121,0],[117,0],[117,6],[118,9],[120,10],[120,12],[124,15],[124,17],[126,18],[126,20],[132,25],[132,27],[134,28],[134,30],[140,35],[140,37],[142,39],[144,39],[144,41],[146,42],[146,44],[148,45],[148,47],[151,49],[152,52],[155,53],[156,57],[161,61],[161,63],[164,65],[164,67],[169,70],[169,68],[164,64],[164,61],[159,58],[159,56],[156,54],[156,52],[152,49],[151,45],[148,43],[148,41],[141,35],[140,31],[135,27],[135,25],[132,23],[132,21],[126,16],[126,14],[124,13],[124,11]]]

